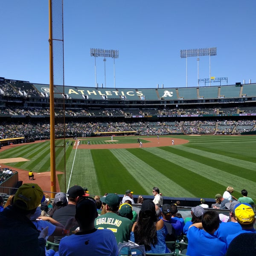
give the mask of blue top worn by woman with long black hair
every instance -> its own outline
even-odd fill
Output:
[[[166,226],[163,226],[160,230],[157,230],[157,244],[154,246],[151,245],[151,250],[148,250],[147,253],[169,253],[165,242],[167,233]],[[133,231],[131,232],[130,240],[135,242]]]

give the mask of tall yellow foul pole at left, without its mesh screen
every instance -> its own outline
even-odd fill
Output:
[[[53,92],[53,54],[52,54],[52,0],[49,0],[49,66],[50,66],[50,163],[51,163],[51,198],[56,192],[55,179],[55,115],[54,115],[54,92]]]

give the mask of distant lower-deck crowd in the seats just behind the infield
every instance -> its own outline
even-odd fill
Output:
[[[140,135],[165,134],[237,134],[255,130],[256,120],[243,121],[180,121],[180,122],[84,122],[67,121],[65,136],[105,132],[134,131]],[[64,136],[63,124],[55,124],[57,137]],[[49,137],[48,122],[6,122],[0,123],[0,139],[15,137]]]

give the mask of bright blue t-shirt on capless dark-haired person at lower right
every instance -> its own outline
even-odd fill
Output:
[[[187,238],[189,243],[186,254],[189,256],[224,256],[227,251],[223,241],[203,229],[191,227]]]

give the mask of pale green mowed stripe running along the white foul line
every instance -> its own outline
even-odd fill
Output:
[[[73,160],[75,157],[74,166]],[[99,183],[97,174],[95,171],[92,155],[90,150],[71,150],[70,154],[67,156],[66,165],[66,180],[67,183],[70,179],[70,173],[73,166],[72,177],[70,180],[70,187],[74,185],[79,185],[82,187],[87,187],[91,195],[99,195]]]

